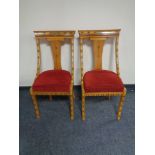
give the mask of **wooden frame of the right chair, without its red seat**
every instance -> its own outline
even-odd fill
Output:
[[[94,52],[94,69],[102,69],[102,51],[103,46],[108,38],[115,40],[115,63],[116,73],[120,77],[119,59],[118,59],[118,41],[120,29],[113,30],[79,30],[79,46],[80,46],[80,64],[81,64],[81,89],[82,89],[82,120],[86,119],[85,112],[85,97],[86,96],[120,96],[120,102],[117,112],[117,120],[121,119],[122,108],[124,104],[124,98],[126,96],[126,88],[123,92],[85,92],[83,83],[83,41],[91,40],[93,42]]]

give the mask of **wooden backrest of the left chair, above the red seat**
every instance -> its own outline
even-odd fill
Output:
[[[53,55],[54,69],[61,69],[61,44],[66,39],[70,40],[71,45],[71,65],[72,76],[74,75],[74,34],[75,31],[34,31],[36,45],[37,45],[37,73],[36,77],[40,74],[41,68],[41,41],[47,41],[51,46]],[[73,77],[72,77],[73,78]]]

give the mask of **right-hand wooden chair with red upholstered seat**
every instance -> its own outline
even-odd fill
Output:
[[[120,29],[116,30],[79,30],[81,88],[82,88],[82,120],[85,120],[86,96],[120,96],[117,120],[120,120],[126,88],[120,78],[118,61],[118,40]],[[102,51],[108,38],[115,40],[116,73],[102,69]],[[83,41],[90,40],[93,45],[94,68],[83,73]]]

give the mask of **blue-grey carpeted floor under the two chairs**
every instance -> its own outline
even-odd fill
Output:
[[[28,88],[21,88],[20,155],[134,155],[135,91],[128,88],[121,121],[116,120],[118,97],[86,98],[81,120],[80,89],[75,89],[75,119],[69,118],[67,97],[39,97],[41,119],[34,117]]]

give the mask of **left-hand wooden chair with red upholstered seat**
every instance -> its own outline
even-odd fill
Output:
[[[37,45],[37,73],[30,94],[32,96],[35,116],[40,118],[37,102],[38,95],[67,95],[70,97],[70,118],[74,119],[74,34],[75,31],[34,31]],[[61,67],[61,43],[69,40],[71,46],[71,73]],[[41,49],[40,44],[47,42],[52,51],[54,69],[41,72]]]

